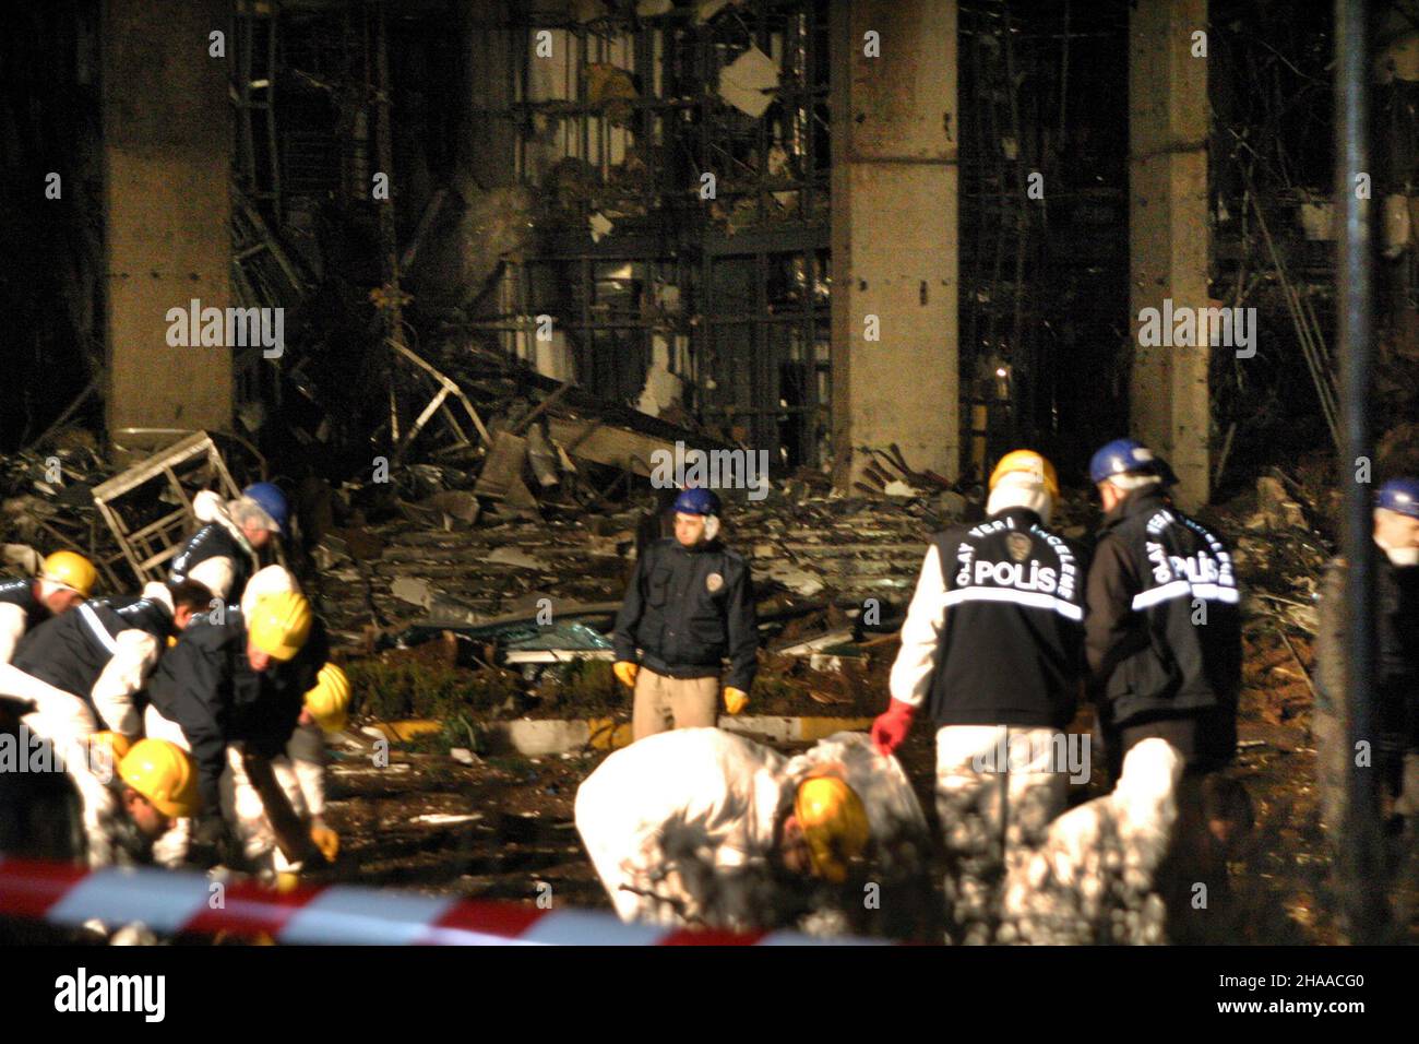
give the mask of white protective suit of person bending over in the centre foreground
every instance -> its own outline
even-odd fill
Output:
[[[839,733],[790,761],[718,729],[613,753],[576,794],[576,828],[623,920],[748,926],[797,781],[829,763],[861,797],[874,838],[925,832],[901,767],[866,736]]]

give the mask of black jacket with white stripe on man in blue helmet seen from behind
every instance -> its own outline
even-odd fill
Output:
[[[1235,730],[1239,597],[1232,553],[1161,487],[1132,490],[1104,516],[1086,648],[1091,695],[1115,727],[1220,712]]]

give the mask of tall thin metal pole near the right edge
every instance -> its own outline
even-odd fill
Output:
[[[1345,695],[1349,703],[1348,801],[1341,827],[1341,906],[1355,943],[1385,933],[1384,855],[1372,767],[1355,764],[1359,743],[1375,747],[1371,730],[1375,669],[1374,527],[1371,487],[1357,482],[1362,462],[1372,462],[1369,433],[1372,241],[1369,234],[1369,112],[1366,98],[1365,0],[1335,0],[1335,195],[1342,217],[1340,237],[1340,357],[1342,439],[1342,526],[1347,572]],[[1364,197],[1362,197],[1364,196]],[[1368,477],[1368,467],[1366,477]]]

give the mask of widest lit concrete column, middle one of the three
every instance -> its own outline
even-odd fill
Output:
[[[867,463],[854,446],[893,442],[955,477],[956,4],[854,0],[832,17],[834,482]]]

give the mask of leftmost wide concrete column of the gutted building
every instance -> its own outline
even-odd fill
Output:
[[[104,3],[106,403],[109,432],[128,447],[173,436],[125,428],[231,423],[231,349],[169,347],[166,320],[193,298],[231,304],[233,41],[210,57],[214,30],[230,37],[230,3]]]

